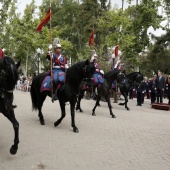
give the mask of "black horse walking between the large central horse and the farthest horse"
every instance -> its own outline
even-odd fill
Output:
[[[123,83],[125,79],[125,71],[122,70],[112,70],[104,74],[104,83],[97,88],[97,99],[96,104],[92,110],[92,116],[96,116],[95,110],[96,107],[99,106],[99,101],[101,100],[101,97],[105,97],[106,102],[109,107],[110,115],[112,118],[116,118],[116,116],[112,112],[112,106],[110,103],[110,90],[112,87],[112,83],[114,80],[116,80],[118,83]]]

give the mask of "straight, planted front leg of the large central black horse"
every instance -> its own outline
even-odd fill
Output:
[[[73,99],[70,102],[70,110],[71,110],[71,126],[73,127],[73,132],[78,133],[79,130],[75,125],[75,104],[76,104],[76,99]]]

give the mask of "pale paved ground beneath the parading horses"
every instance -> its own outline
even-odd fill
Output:
[[[93,100],[83,100],[84,113],[76,112],[79,133],[70,126],[70,112],[59,125],[58,101],[44,103],[46,125],[39,124],[31,110],[28,92],[15,91],[16,117],[20,123],[18,153],[10,155],[13,129],[0,117],[0,170],[169,170],[170,112],[140,107],[129,101],[131,111],[113,103],[112,119],[107,104],[101,102],[96,117],[91,116]]]

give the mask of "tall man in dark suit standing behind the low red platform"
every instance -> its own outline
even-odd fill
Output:
[[[157,103],[163,103],[163,92],[165,88],[165,78],[162,73],[158,71],[158,77],[156,78],[156,91],[157,91]],[[160,100],[159,100],[160,99]]]

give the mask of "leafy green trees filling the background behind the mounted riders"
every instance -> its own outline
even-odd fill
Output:
[[[110,2],[110,0],[82,0],[79,3],[77,0],[52,0],[52,38],[60,39],[63,54],[67,59],[71,57],[73,62],[90,59],[91,51],[95,49],[100,64],[106,71],[110,69],[108,47],[119,44],[123,60],[130,65],[129,67],[143,64],[139,53],[151,48],[147,30],[150,26],[154,29],[159,28],[162,21],[158,15],[160,2],[141,0],[138,5],[130,6],[124,11],[111,9]],[[169,0],[164,2],[168,13]],[[16,3],[17,0],[0,0],[1,46],[6,49],[6,55],[16,60],[21,59],[24,69],[28,58],[30,74],[37,69],[36,49],[42,49],[44,53],[40,55],[41,63],[45,67],[44,70],[47,70],[49,62],[46,60],[46,51],[52,43],[50,22],[40,33],[36,33],[36,28],[50,7],[49,0],[43,0],[39,13],[36,13],[38,7],[35,6],[35,0],[32,0],[26,6],[23,16],[16,13]],[[89,48],[87,44],[93,27],[95,47]],[[166,51],[165,56],[168,54]]]

